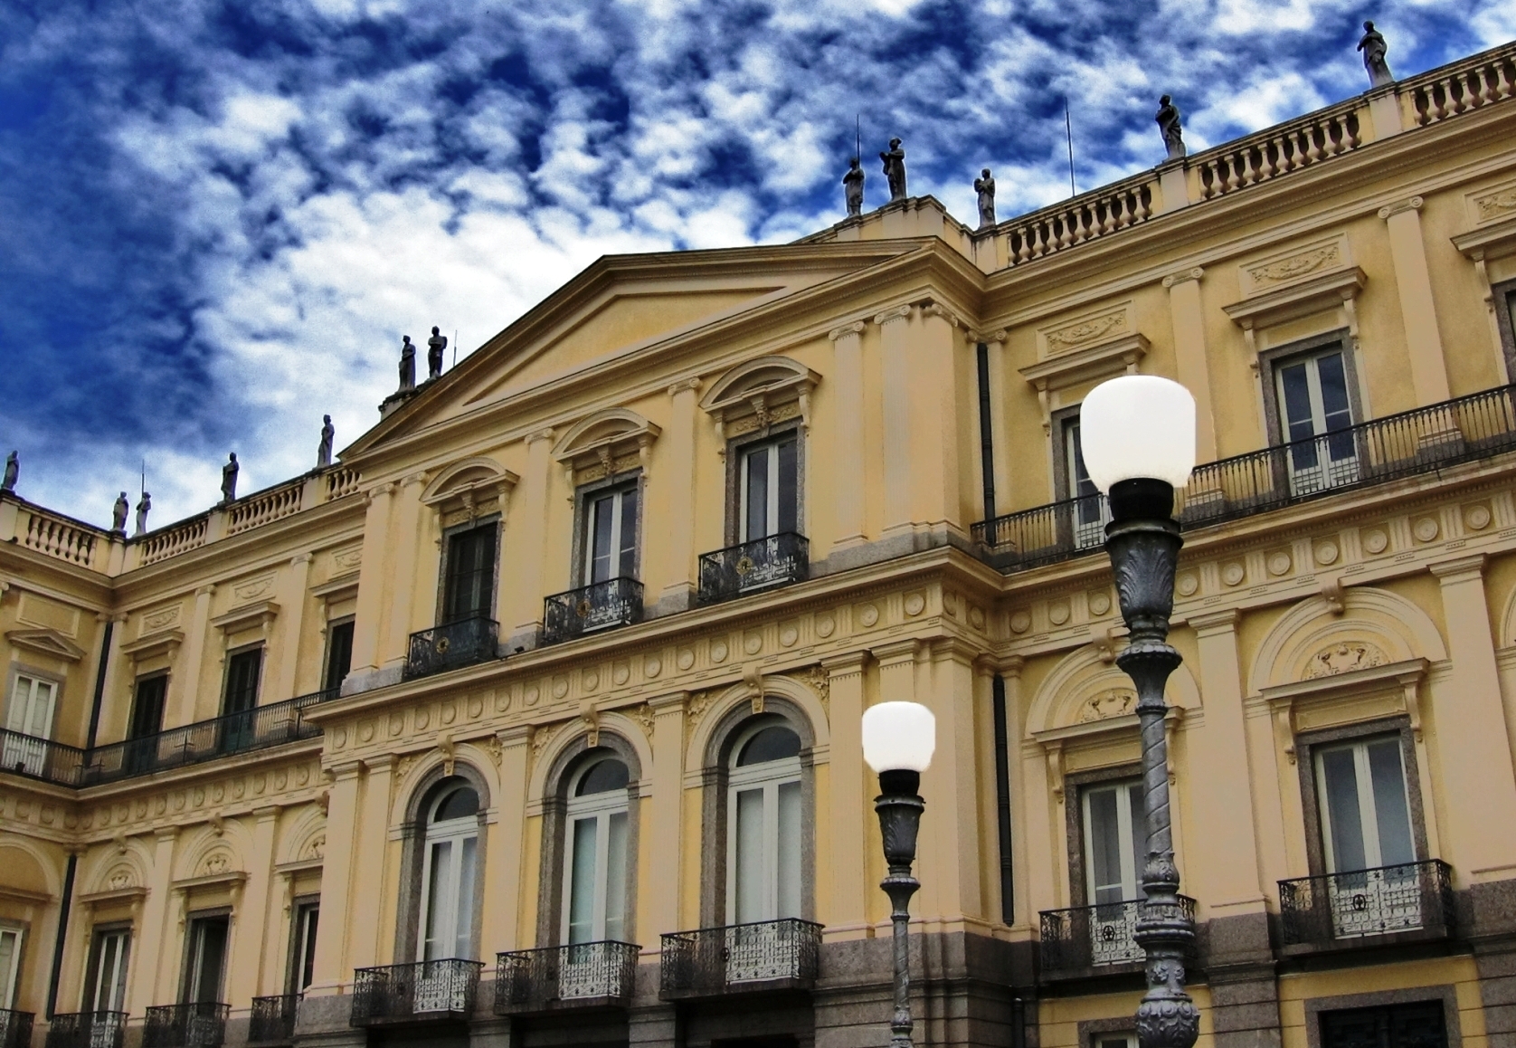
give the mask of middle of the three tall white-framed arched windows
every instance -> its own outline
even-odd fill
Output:
[[[626,939],[626,784],[617,757],[602,757],[568,783],[564,837],[562,942]]]

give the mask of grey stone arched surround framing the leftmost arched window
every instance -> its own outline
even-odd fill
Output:
[[[488,822],[491,807],[490,787],[485,777],[471,764],[456,761],[450,775],[447,770],[449,769],[438,764],[421,777],[411,792],[411,799],[406,804],[405,811],[405,824],[400,827],[400,898],[399,921],[396,922],[394,957],[402,963],[421,959],[421,951],[424,948],[424,930],[421,922],[426,916],[428,848],[431,843],[428,836],[428,822],[437,801],[456,786],[468,786],[479,798],[479,808],[473,816],[473,839],[476,842],[473,852],[473,890],[468,898],[459,902],[459,905],[467,913],[470,945],[475,954],[475,957],[470,959],[476,959],[482,949],[482,943],[479,942],[479,928],[484,915],[487,869],[485,825]]]

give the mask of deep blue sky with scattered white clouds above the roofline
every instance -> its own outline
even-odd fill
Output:
[[[5,0],[0,453],[153,522],[377,420],[402,334],[464,353],[597,256],[784,243],[905,140],[913,193],[1001,217],[1516,36],[1510,0]],[[887,197],[878,162],[866,206]]]

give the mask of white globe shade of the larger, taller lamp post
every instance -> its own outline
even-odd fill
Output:
[[[1079,406],[1079,446],[1104,493],[1119,481],[1181,488],[1195,469],[1195,397],[1157,375],[1123,375],[1090,390]]]

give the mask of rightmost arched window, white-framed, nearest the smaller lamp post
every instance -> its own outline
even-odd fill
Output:
[[[802,916],[800,737],[778,717],[732,746],[726,825],[728,922]]]

